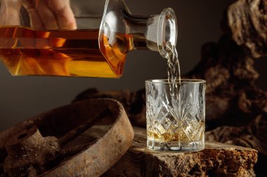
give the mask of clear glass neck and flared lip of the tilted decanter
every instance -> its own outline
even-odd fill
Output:
[[[165,8],[149,17],[124,13],[127,34],[133,35],[133,50],[153,50],[167,55],[167,43],[176,46],[177,22],[174,10]]]

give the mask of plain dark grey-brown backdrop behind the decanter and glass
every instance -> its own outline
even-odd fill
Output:
[[[182,73],[200,61],[200,48],[208,41],[218,41],[221,36],[220,20],[223,10],[233,0],[126,0],[136,15],[159,14],[171,7],[178,17],[178,55]],[[0,41],[1,42],[1,41]],[[267,59],[256,59],[255,66],[261,74],[257,83],[267,90]],[[166,60],[152,51],[133,51],[127,56],[124,76],[120,79],[13,77],[0,64],[0,131],[26,118],[70,103],[74,97],[89,87],[99,90],[139,90],[147,79],[167,76]]]

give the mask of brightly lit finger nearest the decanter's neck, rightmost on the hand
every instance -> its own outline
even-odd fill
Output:
[[[56,14],[60,29],[77,29],[76,20],[70,8],[70,0],[47,0],[47,3]]]

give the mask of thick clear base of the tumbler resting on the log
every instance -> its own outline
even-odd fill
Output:
[[[178,142],[171,141],[164,143],[162,141],[153,141],[148,139],[147,148],[150,150],[161,150],[161,151],[176,151],[176,152],[195,152],[205,148],[204,141],[193,141],[193,142]]]

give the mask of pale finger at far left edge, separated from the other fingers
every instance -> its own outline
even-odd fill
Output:
[[[1,3],[1,25],[20,25],[20,0],[2,0]]]

